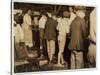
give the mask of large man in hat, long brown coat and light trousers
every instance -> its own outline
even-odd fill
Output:
[[[76,18],[70,25],[71,39],[69,49],[71,50],[71,69],[84,67],[83,51],[84,39],[86,37],[85,8],[76,6]]]

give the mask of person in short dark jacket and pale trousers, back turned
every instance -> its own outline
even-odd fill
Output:
[[[47,52],[48,52],[49,63],[52,63],[53,56],[55,54],[57,21],[55,15],[52,15],[51,13],[47,13],[47,15],[48,19],[45,27],[45,39],[47,41]]]

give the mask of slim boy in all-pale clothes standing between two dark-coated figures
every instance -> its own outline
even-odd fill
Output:
[[[63,13],[63,18],[62,17],[58,18],[57,30],[59,31],[59,35],[58,35],[59,53],[58,53],[57,66],[63,67],[64,64],[63,52],[65,48],[66,34],[69,33],[69,12],[68,11],[65,11]]]

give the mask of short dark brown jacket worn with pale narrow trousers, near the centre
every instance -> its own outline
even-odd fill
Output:
[[[48,18],[45,25],[45,39],[46,40],[56,40],[57,32],[56,26],[57,21],[52,18]]]

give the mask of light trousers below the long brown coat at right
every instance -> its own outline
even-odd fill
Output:
[[[82,69],[84,67],[83,51],[72,50],[71,69]]]

